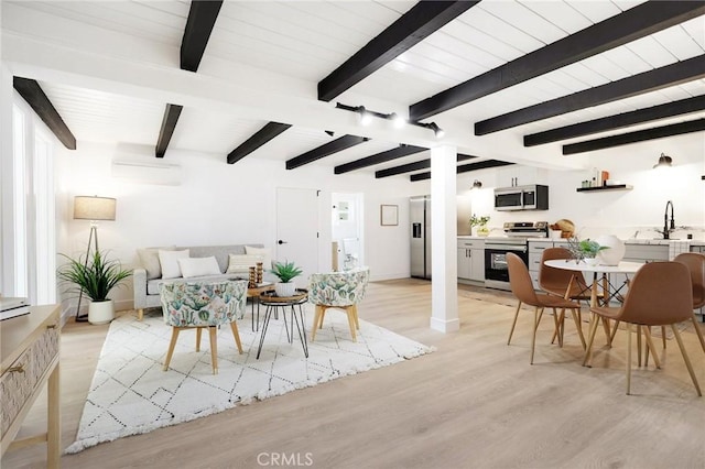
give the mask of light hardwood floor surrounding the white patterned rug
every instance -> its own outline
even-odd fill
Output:
[[[430,283],[372,283],[360,318],[435,352],[101,444],[64,456],[62,465],[258,468],[282,467],[284,458],[288,467],[314,468],[705,467],[705,399],[697,397],[675,340],[662,352],[663,369],[634,370],[634,395],[627,396],[623,330],[611,349],[598,336],[593,368],[585,368],[573,323],[558,348],[550,343],[546,316],[530,366],[533,314],[522,310],[507,346],[516,301],[486,292],[462,287],[462,327],[446,335],[429,328]],[[64,447],[76,435],[106,331],[74,323],[63,330]],[[705,353],[692,325],[683,337],[705,386]],[[39,402],[23,433],[42,428]],[[44,457],[42,445],[18,449],[2,468],[41,468]]]

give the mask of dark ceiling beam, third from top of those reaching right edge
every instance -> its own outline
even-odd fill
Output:
[[[702,111],[703,109],[705,109],[705,95],[524,135],[524,146],[541,145],[590,133],[621,129],[642,122]]]

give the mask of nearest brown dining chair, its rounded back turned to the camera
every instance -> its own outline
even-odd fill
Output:
[[[652,353],[654,347],[649,327],[671,326],[697,395],[703,395],[695,378],[693,366],[683,346],[681,332],[676,327],[676,324],[688,320],[693,315],[691,275],[685,265],[680,262],[651,262],[644,264],[631,280],[629,293],[620,307],[593,307],[590,312],[594,318],[590,321],[590,331],[587,338],[585,364],[589,364],[590,350],[597,330],[597,317],[623,323],[627,329],[627,394],[630,394],[632,325],[637,326],[637,331],[643,330],[647,346]],[[661,368],[655,353],[653,353],[653,359],[657,368]]]

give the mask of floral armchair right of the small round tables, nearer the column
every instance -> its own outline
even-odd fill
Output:
[[[360,328],[357,304],[365,297],[369,279],[369,268],[311,274],[308,277],[308,301],[316,306],[311,332],[312,341],[316,338],[316,329],[323,328],[323,319],[328,308],[345,310],[352,341],[357,341],[355,330]]]

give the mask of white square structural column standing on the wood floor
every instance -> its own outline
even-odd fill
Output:
[[[455,146],[431,149],[431,328],[453,332],[458,319]]]

